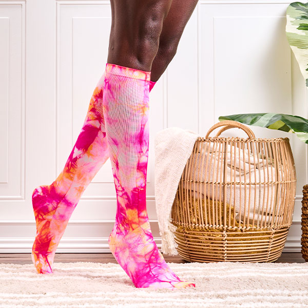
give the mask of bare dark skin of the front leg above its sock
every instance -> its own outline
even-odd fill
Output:
[[[150,71],[172,0],[110,0],[107,62]]]

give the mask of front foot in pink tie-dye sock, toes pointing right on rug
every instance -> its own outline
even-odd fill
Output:
[[[136,287],[195,287],[171,271],[152,237],[148,221],[126,233],[127,229],[115,222],[108,243],[112,255]]]

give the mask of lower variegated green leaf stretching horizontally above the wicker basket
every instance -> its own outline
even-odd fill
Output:
[[[247,125],[294,132],[301,141],[308,143],[308,120],[298,117],[298,115],[283,113],[242,113],[223,115],[218,120],[233,120]]]

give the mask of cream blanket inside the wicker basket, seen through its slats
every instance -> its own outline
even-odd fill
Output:
[[[275,202],[275,192],[277,192],[277,189],[275,189],[274,185],[259,183],[271,183],[276,180],[282,181],[282,170],[278,170],[279,176],[277,176],[274,165],[268,163],[266,159],[262,159],[262,157],[256,152],[254,154],[248,152],[247,149],[244,151],[243,149],[240,149],[239,158],[239,149],[228,144],[226,150],[226,174],[223,181],[224,152],[220,152],[217,146],[213,146],[213,143],[205,143],[204,145],[205,146],[202,147],[202,150],[196,155],[197,166],[202,166],[203,161],[203,167],[200,167],[201,181],[209,183],[250,183],[251,185],[246,185],[246,189],[245,185],[226,185],[226,203],[235,208],[235,213],[237,214],[235,219],[238,222],[240,219],[241,221],[244,221],[244,218],[247,219],[248,217],[249,223],[252,223],[254,219],[254,211],[255,224],[258,219],[260,223],[262,214],[263,224],[265,221],[266,223],[271,222],[274,203],[277,204],[274,214],[277,213],[277,211],[279,213],[281,196],[276,196],[277,200]],[[243,153],[245,153],[245,157]],[[205,187],[206,191],[204,191]],[[195,188],[192,187],[190,190],[195,192],[196,198],[204,198],[205,195],[212,200],[221,200],[223,202],[223,188],[219,189],[219,185],[216,186],[213,184],[208,184],[205,187],[204,185],[196,185]]]

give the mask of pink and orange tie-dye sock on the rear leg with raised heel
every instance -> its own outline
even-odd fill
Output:
[[[32,193],[36,236],[32,261],[38,273],[52,273],[55,250],[81,195],[109,158],[102,110],[105,73],[95,87],[83,127],[61,174]]]

